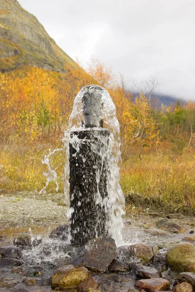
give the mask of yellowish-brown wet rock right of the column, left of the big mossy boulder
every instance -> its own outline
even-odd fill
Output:
[[[149,263],[154,257],[152,247],[145,244],[133,244],[129,246],[130,251],[143,263]]]

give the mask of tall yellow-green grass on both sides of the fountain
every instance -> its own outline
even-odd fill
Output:
[[[0,189],[9,191],[40,191],[46,183],[41,163],[49,149],[60,145],[53,139],[25,146],[10,142],[0,153]],[[52,156],[51,165],[58,174],[59,192],[63,192],[65,155],[61,151]],[[131,214],[150,209],[195,213],[195,157],[193,153],[180,155],[145,153],[142,160],[135,153],[121,167],[120,185],[126,197],[126,211]],[[56,193],[51,182],[48,193]]]

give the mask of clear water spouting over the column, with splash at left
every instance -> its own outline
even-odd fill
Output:
[[[87,136],[85,136],[85,131]],[[74,156],[73,159],[76,159],[75,166],[79,168],[79,163],[77,163],[77,161],[80,161],[85,167],[87,162],[85,155],[82,155],[82,148],[83,144],[86,144],[90,147],[92,156],[94,155],[95,157],[100,158],[100,160],[95,160],[97,165],[93,165],[93,170],[91,171],[91,175],[95,176],[97,184],[93,196],[97,208],[100,208],[99,214],[102,213],[107,218],[105,226],[106,234],[115,239],[117,246],[121,245],[122,242],[122,215],[124,214],[123,207],[125,203],[124,196],[119,185],[119,164],[121,162],[119,131],[120,129],[116,117],[116,108],[108,91],[100,86],[91,85],[84,87],[78,92],[74,101],[72,113],[70,115],[68,130],[65,131],[63,137],[64,147],[66,148],[66,163],[64,166],[63,179],[65,195],[64,202],[71,205],[71,200],[74,201],[74,197],[76,196],[75,190],[72,194],[69,193],[70,151],[72,151],[71,155]],[[79,136],[83,132],[85,137],[80,139]],[[86,146],[84,145],[84,147]],[[50,180],[54,180],[57,184],[56,171],[52,170],[49,163],[50,156],[53,153],[54,151],[50,152],[50,154],[45,156],[43,160],[43,163],[48,166],[48,172],[45,174],[47,177],[47,184]],[[78,155],[79,157],[77,157]],[[70,157],[70,159],[72,158]],[[101,180],[103,172],[106,172],[106,184],[104,184],[104,188],[106,189],[102,191],[100,189],[102,188]],[[83,182],[86,184],[84,186],[84,193],[77,191],[77,196],[80,198],[78,198],[77,206],[69,208],[68,216],[70,220],[72,218],[73,225],[74,220],[76,220],[74,217],[76,216],[74,215],[74,212],[78,212],[75,209],[79,209],[80,205],[83,204],[89,181],[89,177],[82,178],[82,184]],[[42,190],[44,189],[45,188]],[[81,212],[83,213],[83,210],[81,210]],[[100,220],[101,219],[98,218],[96,224],[93,226],[95,231],[97,230],[97,232],[95,232],[96,236],[101,234],[101,230],[98,231],[98,228],[102,228],[100,225]],[[100,227],[98,227],[98,223]],[[83,224],[87,225],[85,221]],[[79,227],[77,228],[78,229],[75,233],[79,233]],[[88,231],[86,230],[86,233],[87,232]]]

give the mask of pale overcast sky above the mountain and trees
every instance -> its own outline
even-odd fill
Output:
[[[195,100],[195,0],[19,0],[74,60]]]

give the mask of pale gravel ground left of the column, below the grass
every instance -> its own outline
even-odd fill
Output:
[[[37,199],[0,196],[0,225],[66,223],[67,206],[57,202]]]

